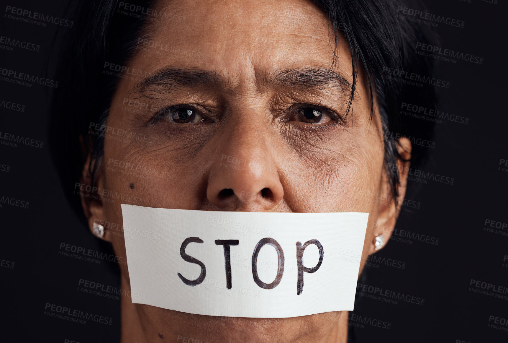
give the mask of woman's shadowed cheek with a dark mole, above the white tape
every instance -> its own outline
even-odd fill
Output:
[[[145,207],[192,209],[200,199],[205,163],[189,158],[188,150],[172,149],[160,142],[131,141],[125,145],[106,140],[104,147],[105,188],[120,204]]]

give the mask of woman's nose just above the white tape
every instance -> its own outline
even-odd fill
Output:
[[[239,134],[243,132],[243,134]],[[221,139],[206,195],[222,211],[268,212],[284,195],[268,134],[237,128]]]

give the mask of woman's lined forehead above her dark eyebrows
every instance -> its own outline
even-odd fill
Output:
[[[176,66],[242,77],[331,67],[331,25],[308,1],[161,0],[154,10],[161,16],[147,25],[133,59],[145,72]]]

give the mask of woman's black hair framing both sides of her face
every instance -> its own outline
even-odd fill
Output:
[[[385,169],[391,177],[392,196],[397,197],[399,176],[391,166],[400,158],[397,137],[409,136],[429,139],[433,123],[401,116],[401,102],[432,108],[435,103],[434,86],[406,85],[395,80],[387,70],[410,71],[432,77],[432,65],[414,53],[417,42],[429,43],[429,33],[415,22],[397,18],[402,0],[312,0],[330,20],[335,47],[342,33],[353,58],[353,89],[348,110],[353,104],[357,73],[362,69],[371,91],[375,89],[385,136]],[[76,16],[75,28],[65,40],[58,77],[61,87],[53,98],[50,121],[50,149],[57,166],[63,190],[69,203],[84,220],[81,200],[73,194],[75,183],[82,179],[83,166],[91,156],[89,173],[93,176],[103,156],[104,135],[90,131],[90,123],[105,125],[117,79],[104,73],[104,64],[126,64],[133,54],[133,46],[143,29],[150,24],[146,13],[155,0],[130,0],[130,10],[119,9],[118,0],[93,0],[83,6],[71,6]],[[405,2],[407,3],[407,2]],[[420,6],[421,7],[421,6]],[[138,9],[143,9],[139,11]],[[148,18],[147,18],[148,17]],[[63,81],[65,80],[65,81]],[[372,111],[371,111],[372,115]],[[396,134],[394,138],[393,135]],[[411,164],[419,164],[425,150],[413,145]]]

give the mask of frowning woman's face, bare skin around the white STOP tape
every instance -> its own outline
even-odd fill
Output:
[[[155,9],[163,16],[148,23],[118,80],[98,174],[100,187],[128,196],[85,205],[90,223],[121,224],[121,203],[368,212],[364,262],[376,230],[393,228],[397,211],[378,205],[389,188],[377,109],[370,120],[360,74],[345,116],[350,51],[339,37],[332,65],[333,28],[322,11],[303,0],[160,1]],[[125,257],[123,237],[107,232],[105,239]],[[120,268],[129,287],[128,269]],[[126,309],[150,335],[175,340],[319,341],[337,323],[337,313],[239,321],[130,301]]]

